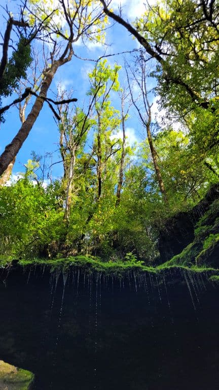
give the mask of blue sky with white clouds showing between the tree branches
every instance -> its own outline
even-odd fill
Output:
[[[2,3],[3,0],[0,0]],[[5,3],[5,2],[4,2]],[[128,19],[130,22],[135,19],[136,16],[144,10],[144,1],[143,0],[123,0],[121,6],[123,8],[123,17]],[[19,2],[14,2],[13,0],[8,0],[9,10],[15,9],[15,6]],[[113,8],[116,11],[120,2],[117,0],[113,1]],[[1,18],[1,31],[5,30],[5,22]],[[132,50],[138,47],[138,44],[132,37],[128,34],[124,27],[114,24],[112,28],[109,28],[106,32],[106,42],[109,45],[106,49],[108,54],[119,53],[126,50]],[[74,47],[75,53],[79,56],[97,59],[100,57],[104,51],[105,47],[100,45],[88,44],[88,47],[84,47],[82,44],[76,44]],[[130,55],[126,55],[127,59],[130,59]],[[117,55],[114,57],[108,57],[108,62],[112,65],[117,62],[123,66],[124,55]],[[86,106],[86,92],[89,89],[89,81],[87,78],[87,73],[91,71],[94,67],[94,62],[92,61],[83,61],[76,57],[72,59],[70,63],[65,64],[63,67],[59,68],[55,78],[53,80],[49,96],[54,98],[54,93],[57,92],[57,86],[62,85],[63,88],[74,89],[74,97],[78,99],[77,105],[79,107]],[[120,72],[120,82],[123,85],[125,81],[125,72],[124,69]],[[12,97],[8,98],[9,101],[12,100]],[[119,108],[119,101],[116,100],[112,102],[115,108]],[[157,111],[157,105],[154,103],[153,106],[154,112]],[[28,113],[28,108],[26,114]],[[1,142],[0,142],[0,153],[4,151],[5,146],[11,142],[13,137],[16,135],[17,131],[20,128],[20,120],[18,116],[17,108],[12,108],[5,114],[5,123],[0,124],[0,133],[1,133]],[[127,126],[127,135],[130,143],[133,143],[135,140],[142,140],[142,126],[138,121],[136,112],[130,110],[130,118],[126,123]],[[90,140],[90,143],[92,141]],[[14,166],[13,173],[17,174],[18,172],[24,171],[24,164],[27,162],[28,158],[31,158],[30,153],[34,150],[36,154],[44,155],[47,152],[52,153],[50,162],[55,163],[60,159],[58,153],[58,129],[54,121],[53,114],[49,109],[48,105],[45,103],[44,108],[41,111],[38,119],[36,120],[27,140],[22,146],[22,149],[18,153],[16,164]],[[61,164],[55,164],[53,166],[52,175],[53,177],[59,177],[61,175]]]

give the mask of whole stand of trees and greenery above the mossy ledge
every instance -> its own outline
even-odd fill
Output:
[[[0,113],[19,104],[22,124],[0,156],[0,174],[44,105],[55,117],[55,164],[63,172],[55,180],[48,173],[45,183],[45,159],[32,153],[21,178],[0,187],[0,251],[6,256],[86,253],[114,261],[131,253],[153,263],[166,219],[192,208],[218,182],[217,2],[148,4],[132,24],[109,7],[104,0],[60,0],[54,9],[34,0],[18,21],[8,18],[0,95],[11,102],[1,103]],[[111,19],[138,49],[120,62],[104,51],[90,62],[84,103],[63,88],[54,98],[50,88],[59,68],[74,67],[79,41],[104,47]],[[156,101],[162,120],[153,112]],[[141,137],[130,142],[129,120],[136,114]]]

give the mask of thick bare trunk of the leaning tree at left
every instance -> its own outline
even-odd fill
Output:
[[[67,57],[65,57],[67,51],[69,51],[69,54],[67,55]],[[51,65],[51,68],[47,68],[47,70],[45,71],[44,81],[42,83],[39,96],[36,98],[30,113],[28,114],[25,122],[22,124],[17,135],[14,137],[12,142],[6,146],[5,151],[0,156],[0,175],[2,175],[4,171],[7,169],[11,161],[15,158],[15,156],[19,152],[24,141],[28,137],[33,124],[35,123],[36,119],[38,118],[43,108],[44,100],[42,99],[42,97],[46,98],[48,89],[52,83],[53,77],[57,69],[65,62],[70,61],[72,54],[73,51],[71,46],[70,47],[67,46],[67,49],[65,49],[64,54],[58,60],[54,60]]]

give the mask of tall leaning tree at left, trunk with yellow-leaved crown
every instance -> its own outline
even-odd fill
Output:
[[[55,20],[54,14],[59,16],[59,23]],[[52,108],[50,102],[55,103],[47,98],[48,89],[58,68],[71,60],[74,54],[73,44],[81,37],[92,39],[94,36],[96,39],[101,39],[101,31],[105,22],[102,19],[102,11],[97,7],[97,2],[94,1],[91,4],[90,0],[72,1],[67,5],[64,0],[61,0],[58,8],[52,11],[44,3],[33,2],[29,19],[30,22],[32,19],[40,19],[40,22],[44,24],[44,36],[42,39],[50,41],[53,44],[53,49],[50,53],[50,63],[47,64],[47,68],[43,73],[43,83],[39,95],[36,95],[32,109],[17,135],[6,146],[5,151],[0,156],[0,175],[4,173],[18,153],[40,114],[44,102],[47,101],[50,108]],[[67,28],[66,32],[62,31],[63,24]],[[59,42],[54,40],[54,34],[59,38]],[[25,99],[27,93],[30,92],[31,90],[26,89],[22,98]],[[55,113],[54,109],[53,113]]]

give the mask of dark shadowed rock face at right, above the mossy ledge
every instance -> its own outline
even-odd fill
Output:
[[[199,202],[197,206],[195,206],[191,211],[189,212],[181,212],[177,215],[173,216],[172,218],[168,219],[163,230],[160,232],[159,237],[159,252],[160,252],[160,258],[159,258],[159,264],[165,263],[169,261],[173,256],[179,254],[186,248],[189,244],[191,244],[195,240],[195,244],[197,244],[196,239],[196,224],[200,220],[200,218],[204,219],[204,216],[208,214],[208,211],[211,209],[212,204],[216,204],[216,200],[219,199],[219,185],[215,184],[211,187],[211,189],[207,192],[205,198]],[[208,220],[204,221],[206,225],[209,226],[209,234],[215,234],[215,220],[218,217],[217,213],[209,212],[210,215],[208,215]],[[213,229],[214,225],[214,229]],[[211,231],[211,229],[212,231]],[[218,233],[218,230],[217,230]],[[206,236],[204,239],[206,239]],[[198,244],[201,247],[197,248],[199,252],[202,250],[202,244],[204,240],[198,240]],[[216,249],[216,248],[215,248]],[[210,248],[209,248],[210,251]],[[196,253],[196,256],[198,253]],[[215,251],[214,251],[215,252]],[[218,253],[218,252],[217,252]],[[207,253],[206,253],[207,254]],[[211,256],[214,256],[212,253],[210,253]],[[204,256],[206,257],[206,256]],[[217,255],[218,257],[218,255]],[[194,261],[192,261],[194,263]],[[200,257],[200,265],[203,263],[203,259]],[[214,263],[214,260],[210,262],[211,264]]]

